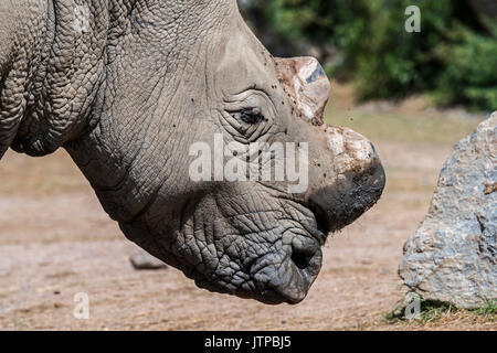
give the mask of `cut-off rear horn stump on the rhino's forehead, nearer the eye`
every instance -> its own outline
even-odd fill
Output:
[[[295,98],[303,117],[314,125],[324,124],[331,85],[325,69],[314,57],[275,58],[279,82]]]

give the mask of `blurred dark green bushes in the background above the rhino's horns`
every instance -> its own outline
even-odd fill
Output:
[[[276,55],[317,53],[328,74],[356,83],[360,99],[429,93],[441,105],[497,110],[497,26],[470,0],[239,2]],[[404,29],[412,4],[420,33]]]

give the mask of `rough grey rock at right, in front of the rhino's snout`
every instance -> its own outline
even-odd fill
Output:
[[[427,300],[459,308],[497,298],[497,113],[459,141],[429,215],[404,245],[399,275]]]

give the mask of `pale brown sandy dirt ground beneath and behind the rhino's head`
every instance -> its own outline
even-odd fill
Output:
[[[455,141],[454,141],[455,142]],[[64,151],[0,163],[2,330],[496,330],[475,314],[389,323],[405,290],[402,246],[423,220],[452,145],[377,142],[388,184],[378,205],[334,234],[298,306],[268,307],[198,289],[176,269],[136,271],[128,242]],[[89,298],[89,319],[73,315]]]

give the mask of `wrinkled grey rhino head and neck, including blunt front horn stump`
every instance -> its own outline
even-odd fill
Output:
[[[65,148],[124,234],[199,287],[297,303],[328,232],[377,202],[384,174],[361,136],[302,117],[284,64],[234,0],[1,0],[0,158]],[[252,140],[309,142],[306,193],[191,181],[191,143],[247,142],[229,128],[247,108],[265,118]]]

